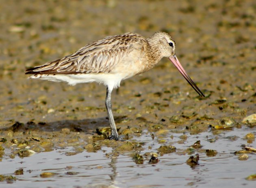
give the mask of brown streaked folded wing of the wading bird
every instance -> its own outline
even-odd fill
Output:
[[[132,51],[132,45],[144,40],[138,34],[125,33],[100,39],[74,54],[28,69],[26,74],[108,73]]]

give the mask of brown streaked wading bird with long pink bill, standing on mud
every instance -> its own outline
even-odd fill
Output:
[[[175,55],[174,38],[165,32],[156,32],[145,39],[137,33],[105,37],[45,65],[26,70],[29,78],[78,83],[98,82],[106,85],[106,110],[111,127],[109,139],[119,140],[111,110],[111,92],[121,80],[152,69],[163,57],[169,58],[193,89],[204,96],[191,80]]]

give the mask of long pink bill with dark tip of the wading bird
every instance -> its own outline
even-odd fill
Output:
[[[189,82],[189,84],[193,87],[193,89],[202,97],[204,97],[204,93],[200,91],[200,89],[196,86],[196,84],[193,82],[193,80],[189,77],[189,75],[186,73],[186,71],[183,69],[182,65],[180,64],[178,58],[174,54],[174,56],[169,57],[169,60],[175,65],[175,67],[180,71],[182,76]]]

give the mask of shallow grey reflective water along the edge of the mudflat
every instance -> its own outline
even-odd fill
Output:
[[[17,184],[21,187],[254,187],[255,182],[247,181],[245,177],[255,173],[255,154],[249,153],[249,159],[245,161],[239,161],[238,156],[234,155],[234,151],[246,144],[243,137],[250,131],[249,128],[235,128],[216,135],[209,130],[196,135],[187,134],[188,139],[184,143],[177,143],[183,134],[169,134],[166,141],[177,148],[176,152],[159,156],[156,164],[149,164],[148,161],[136,164],[131,157],[124,155],[106,157],[111,147],[102,147],[97,153],[84,151],[65,156],[65,152],[73,151],[72,147],[67,147],[36,153],[27,158],[3,158],[0,173],[11,175],[15,170],[24,170],[24,175],[17,175],[17,180],[8,187],[17,187]],[[172,139],[168,138],[170,135],[173,135]],[[216,136],[218,139],[214,143],[208,141]],[[236,138],[233,140],[234,136]],[[145,150],[141,154],[156,151],[161,145],[145,133],[135,139],[145,142]],[[203,147],[195,151],[200,156],[199,164],[191,167],[186,164],[190,155],[179,154],[178,151],[187,149],[195,140],[201,140]],[[148,149],[148,146],[152,149]],[[214,149],[218,153],[213,157],[206,156],[204,149]],[[42,178],[40,174],[43,172],[56,174]],[[68,175],[67,172],[75,174]],[[1,187],[6,185],[5,182],[0,184]]]

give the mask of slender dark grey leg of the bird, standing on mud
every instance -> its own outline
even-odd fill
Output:
[[[108,137],[108,139],[110,140],[119,140],[119,136],[118,136],[118,133],[117,133],[117,127],[115,126],[115,120],[114,120],[114,117],[113,117],[113,113],[112,113],[112,110],[111,110],[111,92],[112,92],[112,89],[108,89],[107,87],[107,92],[106,92],[106,100],[105,100],[105,105],[106,105],[106,109],[107,109],[107,112],[108,112],[108,119],[109,119],[109,124],[110,124],[110,128],[111,128],[111,135]]]

